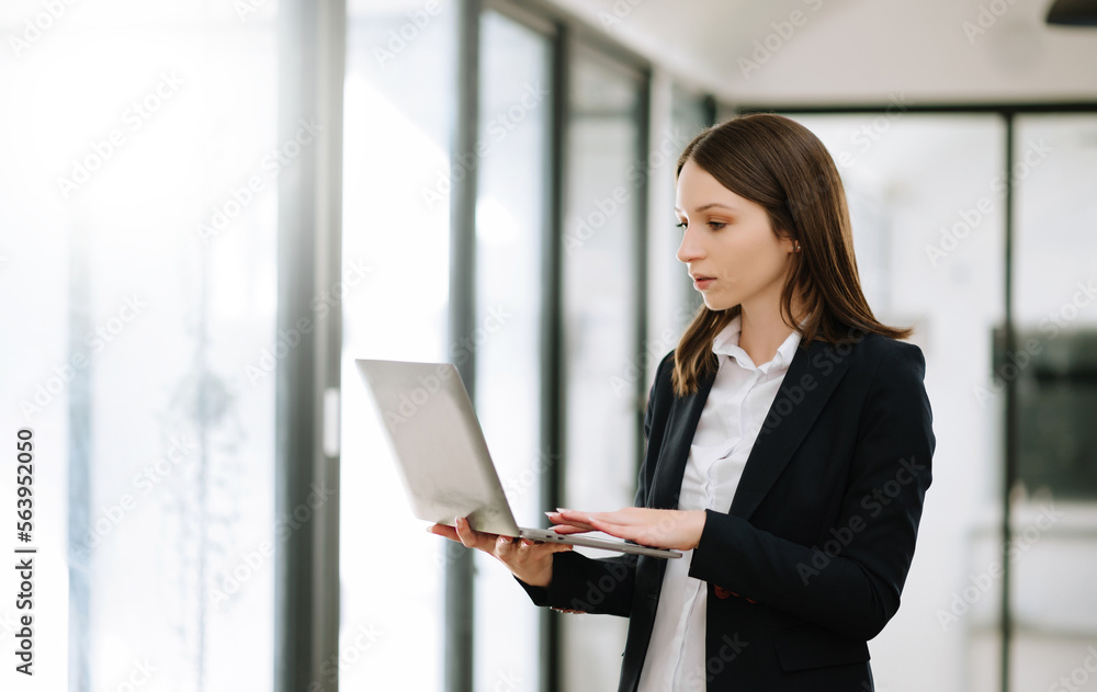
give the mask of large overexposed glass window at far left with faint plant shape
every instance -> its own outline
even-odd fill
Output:
[[[35,680],[269,690],[276,5],[20,7],[0,388],[38,450]]]

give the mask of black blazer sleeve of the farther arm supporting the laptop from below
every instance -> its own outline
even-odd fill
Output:
[[[647,410],[644,413],[644,439],[651,447],[656,389],[663,378],[664,368],[674,363],[671,351],[659,363],[655,382],[647,395]],[[636,483],[635,507],[643,507],[647,497],[648,464],[654,464],[651,449],[645,450],[644,461]],[[629,543],[635,543],[630,541]],[[589,558],[586,555],[565,551],[553,554],[552,581],[547,588],[533,587],[518,577],[533,603],[559,610],[575,610],[585,613],[620,615],[627,617],[632,610],[633,585],[636,577],[636,556],[622,554],[609,558]]]

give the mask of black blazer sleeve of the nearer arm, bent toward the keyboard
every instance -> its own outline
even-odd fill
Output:
[[[868,640],[883,629],[914,557],[936,446],[925,358],[914,344],[892,343],[869,386],[838,519],[823,547],[705,510],[691,577],[841,635]]]

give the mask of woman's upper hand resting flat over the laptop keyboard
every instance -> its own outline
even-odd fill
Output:
[[[601,531],[634,541],[640,545],[676,551],[691,551],[701,541],[705,513],[703,510],[646,509],[626,507],[615,512],[580,512],[559,509],[545,512],[556,524],[556,533],[572,534]]]

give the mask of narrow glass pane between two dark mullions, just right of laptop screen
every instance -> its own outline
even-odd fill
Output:
[[[544,527],[541,483],[558,462],[540,442],[551,44],[495,12],[480,41],[476,411],[518,525]],[[533,692],[539,611],[498,560],[475,560],[475,688]]]

